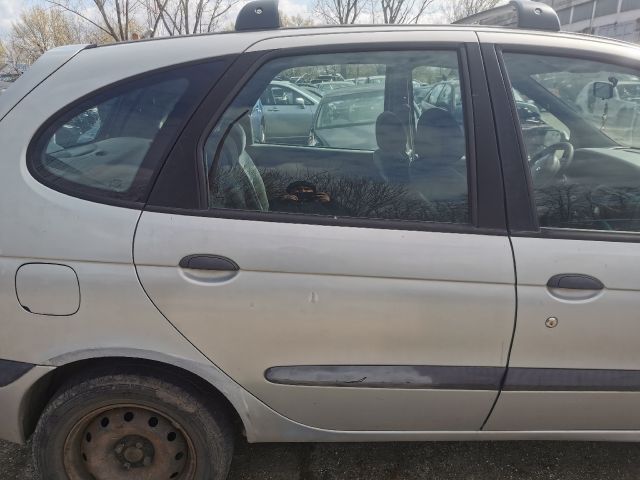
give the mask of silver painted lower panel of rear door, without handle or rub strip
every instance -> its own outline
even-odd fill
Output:
[[[220,277],[177,266],[194,253],[225,256],[240,271]],[[495,399],[483,391],[275,385],[264,372],[276,365],[506,365],[515,295],[504,237],[145,212],[135,260],[145,289],[180,331],[300,423],[467,430],[479,428]]]

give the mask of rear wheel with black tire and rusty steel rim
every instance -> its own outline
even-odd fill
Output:
[[[154,368],[119,370],[56,392],[33,436],[36,478],[226,479],[234,439],[226,409]]]

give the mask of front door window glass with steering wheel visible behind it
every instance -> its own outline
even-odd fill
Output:
[[[505,54],[543,227],[640,231],[640,76]]]

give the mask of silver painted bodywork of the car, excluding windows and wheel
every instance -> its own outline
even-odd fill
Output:
[[[292,44],[321,50],[372,41],[390,47],[464,42],[549,49],[561,43],[585,55],[637,58],[636,47],[449,26],[220,38],[54,50],[0,97],[0,358],[33,366],[0,388],[1,438],[20,442],[31,433],[54,372],[127,357],[195,373],[229,400],[256,442],[640,440],[636,391],[532,387],[499,393],[487,386],[490,381],[478,381],[484,374],[501,375],[507,365],[521,373],[560,369],[574,375],[574,383],[587,370],[640,371],[635,243],[614,249],[608,242],[492,232],[141,212],[49,189],[26,164],[27,146],[42,124],[74,100],[151,70],[209,59],[212,52],[264,53]],[[235,259],[241,270],[206,276],[177,266],[178,259],[212,245],[213,253]],[[547,279],[558,271],[584,271],[607,289],[584,298],[550,293]],[[23,308],[25,296],[36,305],[31,311]],[[46,311],[38,311],[41,305]],[[553,330],[544,326],[552,315],[560,318]],[[357,369],[345,373],[352,385],[265,378],[278,366],[353,364],[409,368],[409,376],[422,382],[446,369],[469,371],[474,380],[470,388],[414,388],[385,384],[385,372],[376,370],[385,384],[379,388]],[[421,365],[439,369],[411,370]],[[279,370],[274,378],[297,374]]]

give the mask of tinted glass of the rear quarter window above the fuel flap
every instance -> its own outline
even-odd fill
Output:
[[[187,86],[169,80],[81,106],[45,135],[42,174],[114,193],[135,188],[151,175],[144,160]]]

